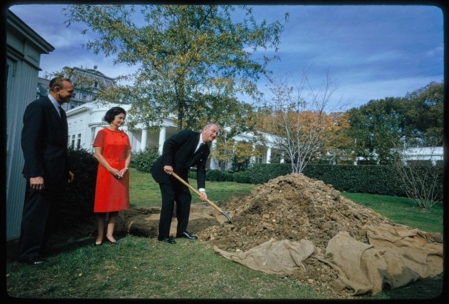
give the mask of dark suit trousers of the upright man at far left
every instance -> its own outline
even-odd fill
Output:
[[[56,229],[64,183],[45,183],[44,190],[30,188],[26,182],[19,251],[17,259],[26,261],[41,256],[52,232]]]

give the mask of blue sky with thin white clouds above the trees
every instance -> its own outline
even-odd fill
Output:
[[[66,28],[64,5],[19,5],[10,10],[55,47],[41,56],[41,68],[93,68],[109,77],[129,72],[127,65],[82,48],[81,25]],[[256,20],[289,22],[281,36],[275,74],[300,77],[305,70],[318,87],[325,72],[339,83],[335,100],[347,108],[372,99],[404,97],[431,81],[443,81],[443,11],[437,6],[254,6]],[[267,92],[265,80],[258,83]]]

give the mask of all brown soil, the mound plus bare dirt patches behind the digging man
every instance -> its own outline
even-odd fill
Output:
[[[304,270],[289,278],[314,288],[326,298],[354,298],[339,283],[334,267],[323,262],[334,236],[347,232],[355,241],[368,244],[366,226],[402,226],[346,199],[332,185],[303,174],[279,176],[247,195],[233,196],[217,205],[229,214],[232,223],[207,203],[195,203],[191,207],[189,232],[228,253],[248,252],[273,239],[309,241],[315,247],[314,254],[303,261]],[[160,208],[124,210],[117,219],[116,232],[156,237],[159,215]],[[176,225],[173,218],[171,235],[175,234]],[[439,234],[426,234],[426,239],[442,243]]]

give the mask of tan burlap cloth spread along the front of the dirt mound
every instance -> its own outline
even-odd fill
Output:
[[[336,270],[338,284],[353,295],[374,295],[387,285],[397,288],[443,272],[443,245],[429,241],[420,230],[388,224],[363,228],[369,244],[339,232],[327,243],[324,256],[306,240],[270,239],[247,252],[214,250],[226,259],[278,276],[305,272],[302,262],[312,256]]]

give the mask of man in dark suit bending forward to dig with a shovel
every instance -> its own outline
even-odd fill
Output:
[[[182,130],[171,136],[164,142],[162,155],[151,168],[153,179],[159,183],[162,194],[162,208],[160,211],[158,241],[175,244],[170,237],[171,218],[176,202],[176,237],[198,239],[187,232],[189,223],[190,204],[192,196],[186,185],[170,176],[175,172],[184,181],[188,181],[189,168],[197,168],[198,190],[202,194],[200,199],[207,201],[206,185],[206,161],[210,154],[209,145],[218,136],[218,126],[208,123],[201,133],[191,130]]]

